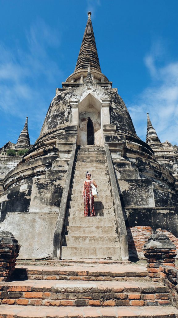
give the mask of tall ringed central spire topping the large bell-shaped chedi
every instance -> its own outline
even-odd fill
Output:
[[[91,12],[88,12],[88,21],[84,32],[82,44],[80,47],[77,64],[75,66],[74,73],[80,69],[87,69],[90,64],[91,68],[101,72],[99,65],[98,52],[96,48],[96,42],[91,21]]]

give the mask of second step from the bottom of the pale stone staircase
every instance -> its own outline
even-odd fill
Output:
[[[63,246],[119,246],[119,239],[117,235],[65,235],[63,238]]]

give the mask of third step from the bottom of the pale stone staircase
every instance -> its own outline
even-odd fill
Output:
[[[86,219],[89,217],[85,217]],[[90,217],[90,218],[97,218],[97,217]],[[93,220],[94,223],[94,220]],[[86,226],[69,226],[66,225],[65,227],[65,235],[116,235],[116,228],[113,225],[108,225],[108,226],[97,226],[97,225],[92,225],[89,226],[86,224]],[[92,258],[92,257],[89,257]],[[102,257],[101,257],[102,258]]]

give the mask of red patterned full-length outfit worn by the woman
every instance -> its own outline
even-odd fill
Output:
[[[94,197],[92,195],[92,187],[91,187],[92,181],[84,183],[84,216],[95,216],[95,210],[94,210]],[[90,215],[88,215],[90,207]]]

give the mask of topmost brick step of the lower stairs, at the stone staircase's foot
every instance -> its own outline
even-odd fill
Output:
[[[44,262],[49,265],[44,265]],[[80,263],[78,263],[80,262]],[[129,261],[112,261],[110,259],[81,260],[41,260],[18,261],[16,279],[38,280],[150,280],[145,266],[131,264]],[[42,265],[39,265],[41,264]],[[26,264],[26,265],[25,265]],[[33,265],[34,264],[34,265]],[[37,265],[36,265],[37,264]],[[54,266],[54,264],[56,264]]]

